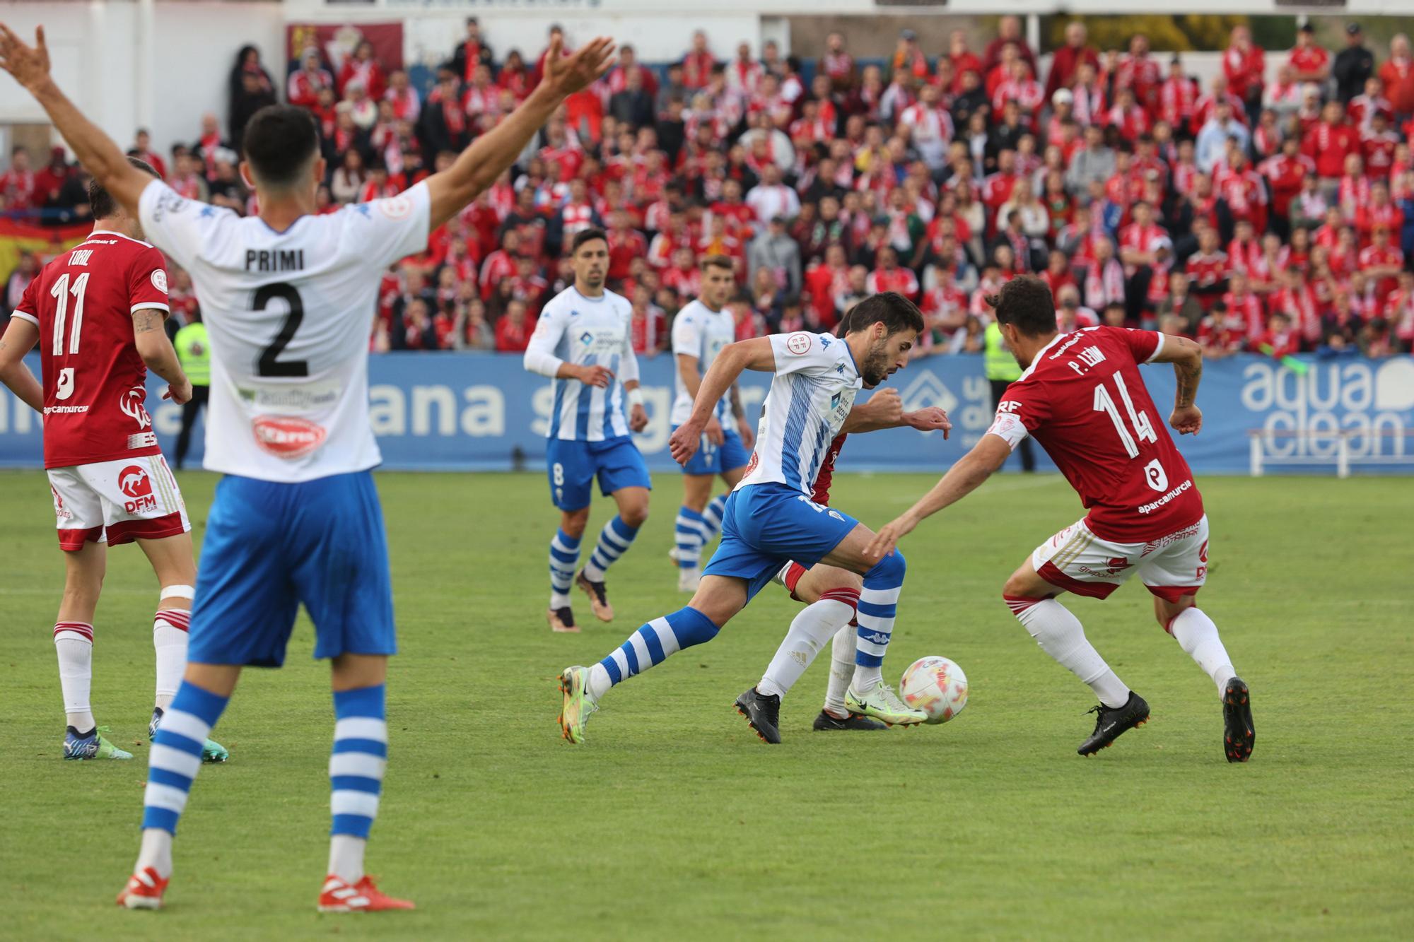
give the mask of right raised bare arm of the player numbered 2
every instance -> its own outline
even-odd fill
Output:
[[[550,38],[544,58],[544,79],[520,106],[461,151],[447,170],[427,178],[431,195],[431,228],[443,225],[471,205],[481,191],[516,163],[566,98],[598,79],[614,65],[614,40],[598,37],[574,55],[561,55],[563,40]]]

